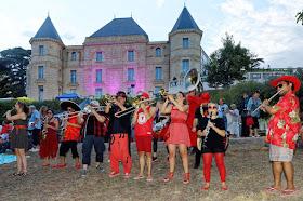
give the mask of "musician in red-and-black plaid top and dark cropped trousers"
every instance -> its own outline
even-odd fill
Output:
[[[91,102],[92,107],[100,107],[97,100]],[[105,128],[104,122],[106,117],[102,111],[96,111],[95,108],[92,108],[91,113],[83,115],[80,112],[78,115],[78,123],[82,124],[82,164],[83,170],[81,176],[88,174],[88,166],[91,164],[91,152],[94,145],[95,149],[95,168],[96,170],[104,171],[104,168],[101,165],[103,163],[103,151],[105,150],[104,136]]]

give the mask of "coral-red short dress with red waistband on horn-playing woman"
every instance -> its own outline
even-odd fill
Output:
[[[186,123],[188,112],[181,112],[174,106],[171,110],[171,124],[170,124],[170,137],[166,142],[166,146],[169,144],[180,145],[186,144],[190,147],[190,138],[188,134],[188,126]]]

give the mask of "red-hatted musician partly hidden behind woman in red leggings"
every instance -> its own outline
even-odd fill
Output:
[[[208,103],[210,102],[210,95],[207,92],[203,92],[200,96],[201,105],[195,111],[195,119],[193,122],[193,132],[197,131],[197,125],[201,122],[203,117],[208,116]],[[200,145],[199,145],[200,146]],[[194,169],[198,169],[200,166],[202,152],[196,148],[196,157],[195,157],[195,165]]]

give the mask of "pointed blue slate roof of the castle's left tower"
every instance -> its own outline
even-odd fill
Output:
[[[44,21],[44,23],[42,24],[42,26],[40,27],[40,29],[38,30],[38,32],[35,35],[34,38],[51,38],[62,42],[50,16],[47,17],[47,19]]]

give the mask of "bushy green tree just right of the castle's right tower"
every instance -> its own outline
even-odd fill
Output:
[[[212,88],[229,88],[236,80],[243,80],[247,70],[258,67],[263,58],[242,48],[241,43],[235,44],[233,36],[226,34],[222,38],[223,48],[210,55],[210,63],[206,65],[207,81]]]

